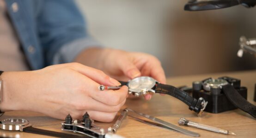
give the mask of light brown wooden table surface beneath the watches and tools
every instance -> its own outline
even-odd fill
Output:
[[[241,79],[242,86],[246,86],[248,88],[248,100],[250,101],[250,103],[256,105],[256,102],[253,101],[254,85],[256,83],[256,70],[171,77],[167,79],[167,84],[173,86],[192,86],[193,81],[200,81],[208,77],[217,78],[220,76],[230,76]],[[143,98],[128,99],[123,109],[126,107],[135,111],[158,117],[159,119],[168,121],[177,126],[179,126],[177,123],[179,118],[185,117],[191,121],[196,121],[202,124],[227,129],[237,134],[237,136],[223,135],[192,127],[180,126],[184,129],[200,133],[202,138],[256,138],[256,119],[251,117],[249,114],[244,113],[240,109],[226,111],[219,114],[204,112],[201,117],[197,117],[193,111],[190,111],[188,109],[188,106],[186,104],[179,101],[178,99],[168,95],[160,96],[158,94],[155,94],[150,101],[146,101]],[[119,115],[116,116],[116,119],[118,118],[118,116]],[[0,117],[0,120],[11,117],[28,119],[33,127],[63,132],[61,131],[61,122],[63,121],[39,113],[29,111],[6,112],[3,116]],[[113,121],[112,123],[96,122],[96,124],[100,127],[107,128],[112,126],[114,122],[115,121]],[[117,134],[122,135],[126,138],[192,138],[177,132],[171,132],[164,129],[148,126],[138,121],[134,121],[130,117],[127,117],[122,122],[121,127],[117,130]],[[8,132],[3,130],[0,130],[0,136],[19,138],[46,137],[43,135],[36,135],[26,132]]]

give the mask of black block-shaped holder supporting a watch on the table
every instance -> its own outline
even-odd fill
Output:
[[[228,81],[237,91],[239,94],[241,94],[242,97],[247,99],[247,88],[241,85],[241,81],[235,78],[231,77],[220,77],[219,79],[224,79]],[[210,112],[210,113],[220,113],[232,109],[237,109],[226,97],[224,92],[222,90],[215,91],[215,89],[211,89],[210,92],[205,91],[202,88],[202,85],[198,85],[198,82],[193,82],[193,88],[192,88],[192,96],[194,98],[204,98],[208,104],[204,111]],[[201,81],[203,82],[203,81]]]

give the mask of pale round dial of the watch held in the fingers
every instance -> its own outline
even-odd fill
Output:
[[[128,87],[134,90],[152,89],[155,86],[156,81],[151,77],[138,77],[129,81]]]

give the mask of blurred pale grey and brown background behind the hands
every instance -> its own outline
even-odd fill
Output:
[[[256,69],[237,57],[239,37],[256,38],[256,7],[184,11],[188,0],[77,0],[88,30],[106,47],[159,58],[167,76]]]

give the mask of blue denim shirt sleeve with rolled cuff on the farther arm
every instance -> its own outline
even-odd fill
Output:
[[[42,0],[37,28],[45,66],[73,62],[79,52],[101,46],[87,32],[86,22],[73,0]]]

